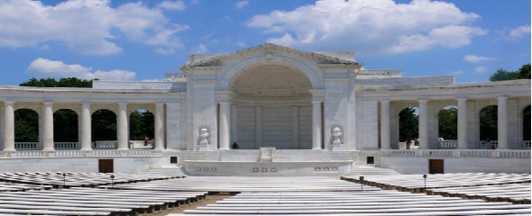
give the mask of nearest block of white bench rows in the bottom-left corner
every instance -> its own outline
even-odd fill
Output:
[[[206,198],[201,192],[126,191],[95,188],[0,193],[0,214],[137,216]]]

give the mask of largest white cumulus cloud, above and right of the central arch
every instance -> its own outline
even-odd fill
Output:
[[[270,38],[271,43],[382,55],[468,45],[487,33],[470,24],[480,18],[440,1],[318,0],[294,11],[256,15],[247,25],[282,35]]]

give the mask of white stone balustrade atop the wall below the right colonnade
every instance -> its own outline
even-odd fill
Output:
[[[530,150],[382,150],[382,157],[531,158]]]

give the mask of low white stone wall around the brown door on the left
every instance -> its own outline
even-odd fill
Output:
[[[0,173],[81,172],[97,173],[98,159],[114,159],[115,173],[135,174],[161,166],[161,157],[106,158],[9,158],[0,159]]]

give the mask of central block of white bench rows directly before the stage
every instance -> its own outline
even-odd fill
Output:
[[[163,190],[163,191],[208,191],[215,193],[242,192],[327,192],[381,190],[379,188],[353,184],[328,177],[219,177],[188,176],[155,182],[114,185],[115,189]],[[102,185],[110,188],[111,185]]]

